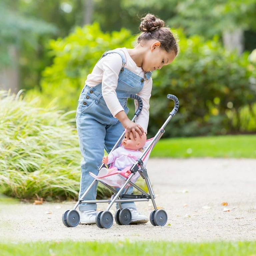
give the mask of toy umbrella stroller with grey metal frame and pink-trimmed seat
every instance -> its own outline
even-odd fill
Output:
[[[143,104],[141,98],[138,95],[131,94],[130,98],[136,99],[138,101],[138,108],[134,113],[134,117],[132,119],[132,121],[134,121],[135,118],[141,113]],[[175,95],[168,94],[167,98],[174,101],[173,110],[169,113],[169,117],[166,119],[162,127],[158,130],[157,134],[153,138],[148,139],[146,141],[146,144],[143,148],[144,152],[142,152],[141,156],[137,159],[133,166],[127,167],[124,170],[111,172],[103,176],[96,176],[93,173],[90,173],[90,175],[94,178],[93,182],[87,188],[87,190],[84,192],[81,198],[79,198],[73,210],[67,210],[62,215],[62,222],[66,227],[76,227],[79,224],[80,215],[76,208],[79,206],[79,204],[82,203],[108,203],[106,211],[100,211],[97,213],[96,225],[99,228],[110,228],[113,225],[113,215],[109,210],[114,203],[117,203],[119,206],[119,209],[115,212],[114,216],[116,223],[118,225],[129,225],[132,219],[131,211],[128,208],[122,208],[121,202],[139,202],[149,200],[152,201],[154,207],[154,210],[150,213],[149,217],[151,224],[153,226],[164,226],[166,224],[168,218],[167,213],[163,209],[157,209],[155,203],[155,195],[145,165],[146,162],[148,161],[151,150],[165,132],[165,126],[170,121],[170,119],[176,114],[179,108],[179,100]],[[111,152],[118,146],[120,146],[124,134],[125,131],[123,132],[119,140],[116,142]],[[103,167],[106,167],[105,164],[101,164],[99,166],[99,173]],[[141,187],[135,184],[136,180],[140,176],[145,180],[148,192],[144,191]],[[90,189],[97,181],[101,182],[111,192],[113,192],[111,198],[107,200],[83,200],[85,195],[90,191]],[[133,186],[139,192],[141,192],[141,194],[126,194],[129,189],[129,186]],[[117,190],[117,187],[120,189]]]

